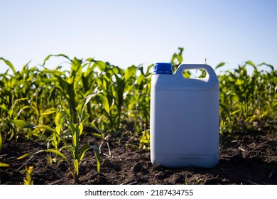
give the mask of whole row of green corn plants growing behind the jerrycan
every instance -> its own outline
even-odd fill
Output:
[[[175,70],[183,62],[182,54],[179,48],[172,57]],[[61,65],[51,70],[45,67],[57,56],[70,64],[70,70]],[[92,127],[92,135],[99,139],[129,131],[141,140],[137,149],[148,149],[153,65],[122,69],[93,58],[66,55],[48,55],[40,68],[26,64],[16,71],[9,60],[0,58],[0,67],[3,65],[9,70],[0,74],[0,150],[8,141],[47,140],[46,152],[67,161],[77,177],[78,165],[89,149],[94,150],[98,170],[100,167],[97,146],[80,146],[84,127]],[[277,72],[273,66],[247,61],[234,70],[219,72],[222,66],[224,63],[215,67],[220,87],[219,133],[276,130]],[[70,151],[72,162],[62,149]],[[27,155],[35,152],[40,151]]]

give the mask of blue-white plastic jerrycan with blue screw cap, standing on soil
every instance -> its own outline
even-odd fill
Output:
[[[185,78],[202,69],[205,78]],[[210,65],[156,63],[151,77],[151,162],[212,168],[219,162],[219,81]]]

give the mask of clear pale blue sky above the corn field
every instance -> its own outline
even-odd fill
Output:
[[[178,47],[183,63],[277,67],[277,1],[0,0],[0,20],[0,57],[17,70],[58,53],[149,65],[169,62]],[[7,68],[0,61],[0,72]]]

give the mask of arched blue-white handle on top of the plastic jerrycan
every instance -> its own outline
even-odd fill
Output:
[[[175,72],[175,75],[182,75],[184,70],[190,70],[190,69],[202,69],[207,72],[207,75],[205,79],[207,78],[207,82],[210,81],[217,81],[217,74],[215,74],[214,69],[207,64],[181,64],[179,65],[178,69]]]

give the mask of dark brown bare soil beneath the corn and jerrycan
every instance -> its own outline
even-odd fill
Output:
[[[82,143],[100,146],[101,171],[97,173],[92,150],[80,163],[77,184],[277,184],[276,134],[237,134],[222,139],[219,164],[214,168],[163,168],[153,165],[150,152],[135,150],[139,140],[130,137],[110,137],[102,141],[94,136],[83,136]],[[126,143],[129,146],[126,146]],[[27,152],[46,149],[45,141],[17,141],[3,146],[0,161],[10,167],[0,168],[0,184],[23,184],[25,166],[33,166],[33,183],[40,185],[70,185],[73,178],[65,161],[47,161],[49,154],[40,153],[17,160]],[[70,154],[65,154],[70,157]]]

